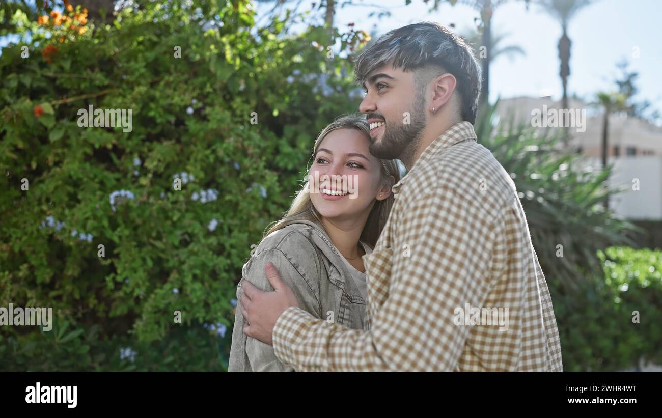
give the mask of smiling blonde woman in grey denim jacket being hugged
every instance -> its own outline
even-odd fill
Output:
[[[273,263],[310,314],[350,328],[367,329],[367,283],[361,257],[370,253],[384,228],[400,180],[393,160],[369,153],[365,118],[340,116],[320,132],[312,151],[307,183],[283,219],[267,229],[242,269],[262,290],[273,290],[264,272]],[[293,371],[273,348],[244,335],[237,309],[230,349],[230,372]]]

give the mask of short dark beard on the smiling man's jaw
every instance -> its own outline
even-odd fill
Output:
[[[379,142],[370,143],[370,153],[381,159],[400,159],[410,163],[420,143],[426,126],[424,95],[416,94],[414,111],[410,114],[409,124],[395,125],[391,121],[384,125],[384,134]]]

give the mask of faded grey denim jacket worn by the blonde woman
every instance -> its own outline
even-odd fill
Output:
[[[341,257],[320,224],[297,220],[261,241],[242,269],[237,300],[244,293],[244,280],[262,290],[273,290],[264,272],[271,261],[302,309],[329,322],[367,329],[366,302]],[[243,329],[244,317],[238,303],[228,371],[294,371],[276,358],[271,345],[246,337]]]

